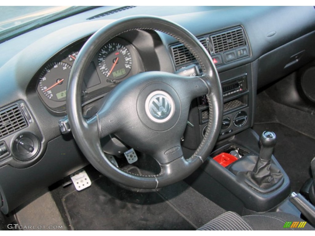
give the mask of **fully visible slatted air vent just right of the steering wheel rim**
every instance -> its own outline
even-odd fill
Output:
[[[211,42],[214,53],[221,53],[233,48],[238,48],[246,45],[244,32],[242,28],[237,28],[215,35],[211,35]]]

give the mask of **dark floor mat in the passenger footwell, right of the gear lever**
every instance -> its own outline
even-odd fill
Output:
[[[277,143],[273,154],[288,174],[291,190],[299,192],[305,181],[311,177],[310,164],[315,156],[315,139],[280,123],[259,123],[253,129],[258,134],[265,130],[276,133]]]

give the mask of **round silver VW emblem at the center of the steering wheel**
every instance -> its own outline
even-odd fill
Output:
[[[154,91],[145,102],[146,115],[156,123],[164,123],[172,118],[175,112],[173,98],[164,91]]]

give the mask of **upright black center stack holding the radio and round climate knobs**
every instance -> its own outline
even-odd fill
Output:
[[[233,136],[253,125],[256,79],[252,64],[219,73],[223,93],[223,119],[219,140]],[[206,96],[192,102],[182,146],[196,150],[203,139],[209,119]]]

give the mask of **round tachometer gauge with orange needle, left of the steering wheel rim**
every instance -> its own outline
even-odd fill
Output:
[[[51,100],[65,101],[70,70],[65,62],[50,63],[39,76],[39,90]]]

